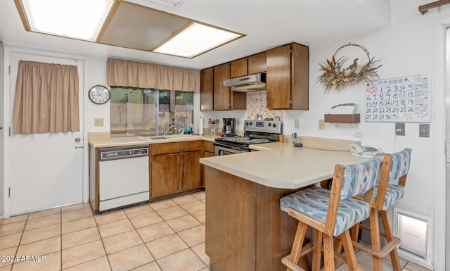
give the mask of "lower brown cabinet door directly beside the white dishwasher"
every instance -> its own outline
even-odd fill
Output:
[[[178,153],[152,156],[151,197],[175,194],[179,191]]]

